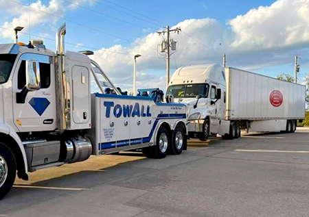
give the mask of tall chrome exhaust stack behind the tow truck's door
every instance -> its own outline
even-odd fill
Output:
[[[70,92],[67,73],[65,72],[65,34],[67,25],[63,23],[56,34],[56,89],[57,92],[57,116],[59,129],[65,130],[70,127]]]

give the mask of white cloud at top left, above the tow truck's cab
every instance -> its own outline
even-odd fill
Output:
[[[46,23],[53,25],[59,18],[51,16],[50,14],[57,14],[57,16],[60,17],[64,14],[60,0],[51,0],[49,1],[49,5],[44,5],[41,1],[36,1],[32,3],[30,7],[32,8],[30,10],[30,16],[29,7],[21,5],[21,8],[19,8],[19,16],[13,18],[10,22],[3,23],[2,27],[14,29],[16,26],[22,26],[25,27],[23,32],[28,32],[29,21],[32,28]],[[1,31],[1,35],[3,38],[14,38],[12,31],[3,30]]]

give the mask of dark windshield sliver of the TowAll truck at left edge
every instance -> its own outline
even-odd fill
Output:
[[[17,55],[13,54],[1,54],[0,55],[0,84],[8,81],[11,70]]]

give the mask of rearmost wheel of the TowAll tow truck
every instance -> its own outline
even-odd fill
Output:
[[[180,155],[183,152],[185,145],[185,133],[181,125],[177,125],[176,129],[172,133],[172,144],[170,145],[170,151],[172,155]]]

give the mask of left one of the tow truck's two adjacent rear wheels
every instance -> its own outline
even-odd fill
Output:
[[[156,144],[142,149],[146,157],[149,158],[164,158],[168,155],[168,149],[170,148],[170,136],[168,129],[160,127],[157,133]]]

